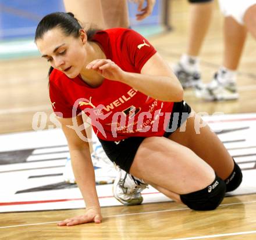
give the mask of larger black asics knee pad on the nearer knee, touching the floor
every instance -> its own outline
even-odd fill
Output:
[[[225,192],[225,182],[216,175],[211,185],[196,192],[181,194],[180,199],[193,210],[214,210],[222,202]]]

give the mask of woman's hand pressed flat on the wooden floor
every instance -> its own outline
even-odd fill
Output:
[[[83,223],[101,223],[101,209],[99,208],[89,208],[86,209],[86,213],[81,216],[72,217],[70,219],[65,219],[58,223],[58,226],[74,226]]]

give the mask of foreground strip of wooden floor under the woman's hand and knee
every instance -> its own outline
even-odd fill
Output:
[[[208,212],[193,211],[178,203],[102,208],[101,224],[73,227],[58,227],[56,222],[63,217],[83,214],[83,209],[5,213],[0,214],[0,239],[166,240],[209,239],[209,236],[222,235],[213,239],[253,240],[255,212],[256,195],[225,198],[218,209]]]

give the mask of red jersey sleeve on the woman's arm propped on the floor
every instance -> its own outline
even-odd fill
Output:
[[[54,110],[58,117],[72,118],[72,105],[66,101],[61,90],[53,82],[49,83],[49,97],[52,110]]]

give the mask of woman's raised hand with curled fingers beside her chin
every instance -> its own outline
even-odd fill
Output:
[[[86,66],[86,69],[94,70],[102,75],[102,77],[113,81],[121,81],[125,75],[125,71],[110,59],[96,59],[91,61]]]

